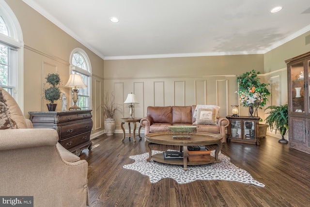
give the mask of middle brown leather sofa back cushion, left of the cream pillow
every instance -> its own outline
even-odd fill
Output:
[[[191,106],[172,106],[172,124],[191,124]]]

